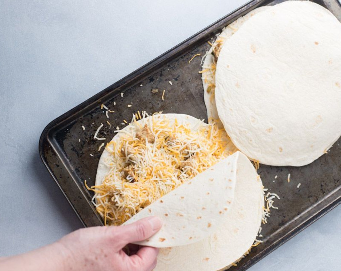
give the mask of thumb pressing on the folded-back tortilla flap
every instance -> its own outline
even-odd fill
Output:
[[[158,232],[161,226],[162,221],[157,216],[145,217],[132,224],[119,226],[116,233],[120,237],[120,246],[146,240]]]

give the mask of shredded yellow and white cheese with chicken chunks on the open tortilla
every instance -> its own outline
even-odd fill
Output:
[[[217,122],[198,120],[198,130],[167,118],[150,118],[147,123],[148,128],[133,117],[130,125],[136,129],[120,131],[119,139],[105,146],[110,153],[105,164],[111,170],[102,184],[85,184],[95,193],[93,204],[105,225],[121,225],[231,154],[226,150],[227,134]],[[151,135],[144,134],[147,129]]]

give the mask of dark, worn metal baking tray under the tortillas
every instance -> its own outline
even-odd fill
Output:
[[[108,142],[114,136],[115,127],[123,127],[122,120],[130,120],[137,110],[149,113],[162,110],[164,113],[183,113],[207,119],[201,75],[198,73],[201,57],[194,58],[190,64],[188,61],[195,54],[204,55],[210,46],[207,41],[214,39],[227,24],[257,6],[279,2],[282,1],[250,1],[46,126],[39,142],[41,158],[84,226],[103,225],[90,202],[93,194],[84,186],[85,179],[89,185],[94,184],[101,155],[98,147],[103,141],[93,139],[97,127],[104,124],[100,135],[106,137],[104,142]],[[337,0],[315,2],[341,20],[341,6]],[[152,93],[151,89],[159,89],[159,92]],[[161,99],[163,89],[164,101]],[[109,114],[109,119],[100,109],[101,104],[115,110]],[[132,106],[127,107],[128,104]],[[110,122],[111,129],[106,121]],[[82,125],[86,127],[85,131]],[[307,166],[261,165],[258,172],[263,184],[269,192],[281,197],[276,202],[279,209],[273,210],[268,223],[263,225],[264,243],[254,247],[237,267],[230,270],[246,270],[340,203],[340,143],[339,139],[328,154]],[[287,182],[289,173],[290,183]],[[278,178],[274,179],[276,175]],[[299,188],[298,183],[301,183]]]

